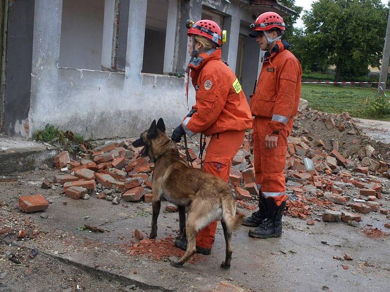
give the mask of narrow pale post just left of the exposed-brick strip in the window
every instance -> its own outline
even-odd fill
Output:
[[[113,67],[113,36],[115,21],[115,0],[104,0],[103,42],[101,47],[101,66]]]

